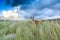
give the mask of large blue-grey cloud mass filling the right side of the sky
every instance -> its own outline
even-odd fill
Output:
[[[23,18],[30,18],[35,16],[35,19],[57,19],[60,18],[60,3],[58,0],[36,0],[32,4],[26,7],[23,6],[23,10],[20,9],[20,16]]]

